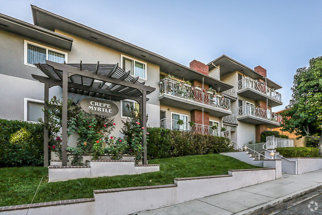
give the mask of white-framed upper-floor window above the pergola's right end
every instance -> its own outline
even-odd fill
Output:
[[[121,67],[124,71],[131,71],[131,75],[147,80],[147,63],[121,54]]]

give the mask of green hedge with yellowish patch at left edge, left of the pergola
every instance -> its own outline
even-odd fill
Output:
[[[0,119],[0,166],[43,165],[43,126]]]

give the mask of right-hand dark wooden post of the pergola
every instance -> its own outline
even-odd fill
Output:
[[[143,90],[142,92],[142,100],[141,100],[141,125],[144,127],[142,134],[142,147],[143,147],[143,157],[142,164],[148,164],[148,156],[147,156],[147,91]]]

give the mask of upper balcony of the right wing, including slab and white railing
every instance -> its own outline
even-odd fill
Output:
[[[275,107],[283,104],[281,94],[265,86],[264,83],[260,83],[249,77],[245,77],[242,80],[239,80],[237,85],[237,93],[239,95],[253,100],[266,101],[266,99],[268,99],[269,107]]]

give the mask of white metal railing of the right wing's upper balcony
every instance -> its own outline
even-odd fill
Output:
[[[238,85],[238,90],[249,87],[249,88],[252,88],[256,91],[264,93],[279,102],[282,101],[282,96],[280,93],[265,86],[264,83],[260,83],[258,81],[255,81],[254,79],[249,78],[249,77],[245,77],[245,78],[239,80],[237,82],[237,85]]]

